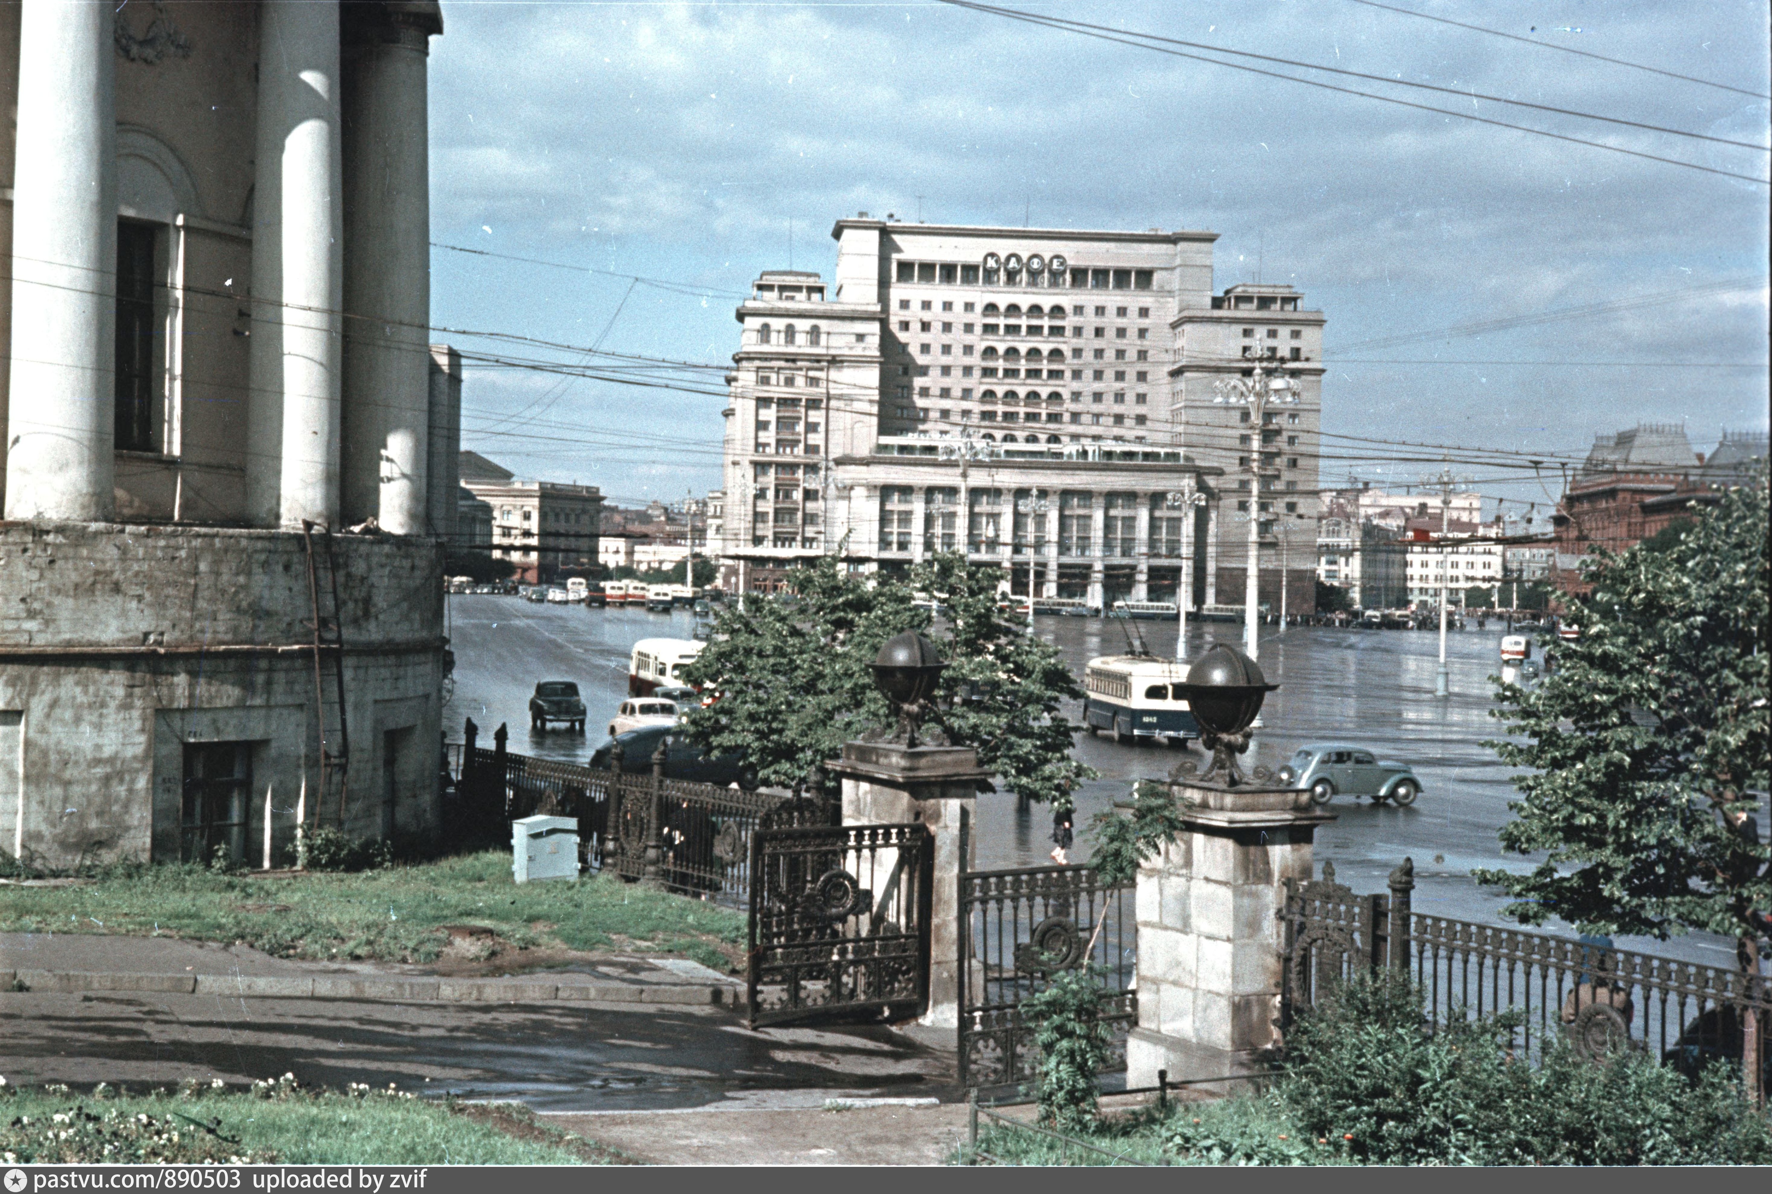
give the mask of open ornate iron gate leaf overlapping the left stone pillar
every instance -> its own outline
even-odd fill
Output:
[[[929,1006],[927,826],[751,834],[751,1027],[904,1020]]]

